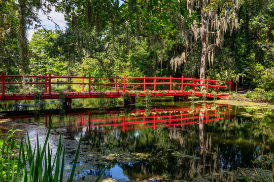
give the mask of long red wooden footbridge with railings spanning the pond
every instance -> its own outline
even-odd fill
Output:
[[[60,96],[59,92],[54,92],[54,89],[59,85],[78,85],[82,92],[65,92],[64,97],[68,99],[77,98],[99,98],[100,93],[104,93],[106,98],[118,98],[123,97],[125,92],[128,92],[131,97],[135,96],[138,92],[140,97],[146,96],[147,92],[150,92],[152,97],[155,96],[175,96],[176,98],[188,99],[191,96],[189,87],[193,89],[194,96],[202,97],[203,93],[197,92],[200,87],[205,90],[205,97],[213,98],[214,95],[211,93],[214,90],[217,93],[217,98],[225,98],[230,95],[231,80],[219,81],[197,78],[180,78],[170,77],[91,77],[89,76],[22,76],[22,75],[5,75],[2,73],[2,94],[0,94],[0,100],[33,100],[35,99],[34,88],[36,86],[45,86],[44,90],[40,92],[40,99],[58,99]],[[31,80],[29,82],[22,80]],[[72,81],[73,80],[73,81]],[[78,80],[78,81],[77,81]],[[19,87],[20,85],[28,85],[33,88],[32,92],[13,93],[8,90],[5,92],[5,87],[13,85]],[[54,86],[55,85],[55,86]],[[97,92],[93,89],[94,86],[111,86],[111,91]],[[163,90],[158,89],[164,86],[169,89]],[[188,90],[184,90],[184,87],[188,86]],[[147,90],[149,88],[150,90]],[[218,88],[228,89],[228,94],[218,93]],[[52,92],[53,91],[53,92]]]

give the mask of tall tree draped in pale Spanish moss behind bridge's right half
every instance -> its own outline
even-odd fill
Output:
[[[205,79],[205,68],[208,59],[209,64],[213,64],[215,48],[222,49],[224,33],[238,27],[237,10],[238,0],[229,1],[187,1],[186,8],[188,17],[193,21],[188,22],[182,15],[179,19],[185,26],[180,30],[184,40],[185,51],[172,59],[170,62],[177,65],[182,64],[187,59],[188,53],[193,53],[193,49],[198,41],[201,42],[200,79]],[[190,23],[188,26],[187,23]]]

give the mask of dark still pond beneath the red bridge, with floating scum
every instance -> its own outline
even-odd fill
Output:
[[[43,141],[53,117],[49,142],[54,153],[62,133],[67,175],[82,134],[75,177],[79,181],[94,180],[118,155],[104,173],[106,181],[241,181],[244,176],[237,167],[254,176],[253,165],[262,175],[271,175],[273,106],[166,99],[149,107],[122,107],[117,101],[98,108],[98,101],[91,99],[73,103],[65,112],[54,103],[41,112],[24,102],[6,101],[0,109],[6,125],[28,131],[33,146],[36,133]]]

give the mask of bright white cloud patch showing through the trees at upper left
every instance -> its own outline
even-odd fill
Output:
[[[49,16],[52,18],[52,20],[59,25],[60,29],[64,29],[66,26],[66,21],[64,20],[64,16],[62,13],[56,12],[55,8],[51,11]],[[41,24],[46,29],[55,30],[55,24],[48,20],[47,16],[44,15],[41,11],[39,11],[39,18],[41,19]],[[31,40],[32,35],[34,34],[35,30],[33,28],[29,29],[27,39]]]

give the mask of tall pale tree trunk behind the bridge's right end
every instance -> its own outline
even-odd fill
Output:
[[[202,1],[202,9],[207,6],[207,0]],[[200,79],[205,79],[205,64],[207,61],[207,39],[208,39],[207,13],[202,10],[201,13],[201,65]],[[201,82],[204,84],[204,82]],[[205,86],[201,86],[201,91],[205,90]]]

